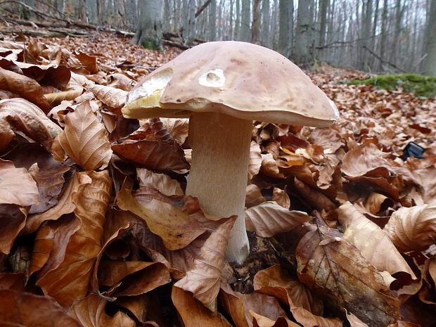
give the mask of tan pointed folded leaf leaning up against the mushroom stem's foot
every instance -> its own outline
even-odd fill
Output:
[[[174,284],[178,288],[192,292],[194,297],[212,312],[217,311],[219,278],[226,262],[224,255],[235,220],[236,217],[227,219],[210,233],[200,253],[195,257],[193,267],[186,271],[184,278]]]

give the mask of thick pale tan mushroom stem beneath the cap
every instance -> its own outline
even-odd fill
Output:
[[[226,259],[239,264],[250,252],[244,210],[251,132],[251,120],[220,113],[194,113],[189,121],[193,150],[186,194],[197,197],[207,214],[238,215]]]

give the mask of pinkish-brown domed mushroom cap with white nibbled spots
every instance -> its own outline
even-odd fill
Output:
[[[271,49],[240,41],[194,46],[141,80],[125,117],[217,112],[245,120],[327,127],[338,108],[307,75]]]

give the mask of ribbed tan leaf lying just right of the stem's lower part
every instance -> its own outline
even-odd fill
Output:
[[[262,237],[290,231],[311,219],[305,212],[288,210],[274,202],[262,203],[245,210],[246,229]]]

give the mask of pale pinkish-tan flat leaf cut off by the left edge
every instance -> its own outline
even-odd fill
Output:
[[[0,164],[4,164],[4,162],[1,160]],[[0,203],[22,207],[39,203],[37,183],[32,179],[27,169],[15,168],[13,164],[0,165],[0,172]]]

